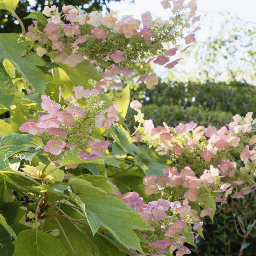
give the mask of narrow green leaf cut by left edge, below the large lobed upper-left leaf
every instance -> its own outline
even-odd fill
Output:
[[[4,65],[0,63],[0,103],[2,106],[11,110],[14,101],[14,85]]]

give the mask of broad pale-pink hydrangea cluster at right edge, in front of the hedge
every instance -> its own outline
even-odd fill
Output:
[[[138,103],[131,105],[140,116]],[[156,151],[165,151],[175,165],[165,168],[160,177],[145,176],[146,194],[153,198],[197,202],[202,218],[212,214],[214,203],[226,203],[228,196],[242,198],[254,192],[256,135],[249,134],[256,119],[252,118],[252,112],[245,117],[236,114],[233,119],[228,128],[218,130],[212,126],[197,127],[194,122],[180,123],[175,128],[166,123],[154,127],[152,120],[141,119],[143,128],[139,128],[137,142],[148,143]],[[237,159],[234,151],[239,152]],[[210,201],[213,191],[219,194]]]

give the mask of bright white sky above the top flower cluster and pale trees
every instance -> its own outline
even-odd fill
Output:
[[[163,20],[167,20],[170,9],[164,10],[160,4],[161,1],[162,0],[134,0],[134,4],[131,4],[130,0],[121,2],[110,1],[109,7],[111,10],[115,11],[117,18],[121,18],[122,15],[133,14],[134,18],[141,20],[140,15],[145,11],[150,11],[153,15],[153,19],[162,18]],[[188,0],[185,2],[187,3]],[[220,26],[225,22],[225,17],[227,17],[219,13],[228,14],[229,12],[231,15],[238,16],[243,21],[254,22],[256,27],[256,0],[197,0],[197,7],[196,16],[201,15],[201,20],[195,25],[200,26],[201,30],[196,31],[196,40],[197,42],[202,42],[202,44],[204,44],[209,37],[214,37],[219,34]],[[116,11],[118,12],[116,13]],[[191,60],[192,59],[193,58],[191,58]],[[194,65],[188,60],[188,57],[186,57],[186,64],[190,68]],[[246,67],[244,67],[244,69],[246,69]],[[160,75],[157,70],[154,69],[154,71]],[[162,75],[160,76],[163,77]],[[256,85],[256,81],[250,81],[250,83]]]

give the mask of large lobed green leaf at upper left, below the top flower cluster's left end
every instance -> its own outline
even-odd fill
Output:
[[[21,53],[28,43],[18,43],[19,38],[20,36],[15,33],[0,34],[0,62],[9,59],[28,84],[40,94],[44,94],[48,80],[36,64],[27,58],[21,58]]]

